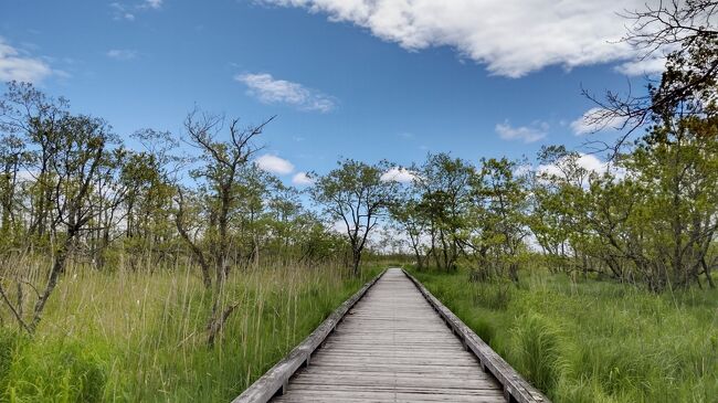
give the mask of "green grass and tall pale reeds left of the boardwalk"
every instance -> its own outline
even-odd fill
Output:
[[[214,349],[197,273],[190,265],[151,274],[71,267],[33,339],[9,330],[14,324],[2,311],[0,401],[229,401],[378,269],[359,279],[337,267],[234,273],[228,300],[241,304]]]

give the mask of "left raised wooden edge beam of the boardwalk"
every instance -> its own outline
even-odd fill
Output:
[[[277,393],[282,393],[286,389],[289,378],[300,369],[303,365],[309,363],[312,353],[318,349],[324,340],[334,331],[336,326],[347,315],[349,309],[353,307],[361,297],[367,294],[369,288],[373,286],[383,274],[384,269],[374,278],[363,285],[353,296],[344,301],[327,319],[325,319],[319,327],[317,327],[312,335],[309,335],[302,343],[294,348],[285,358],[272,367],[262,378],[256,380],[250,388],[242,394],[235,397],[232,403],[266,403]]]

